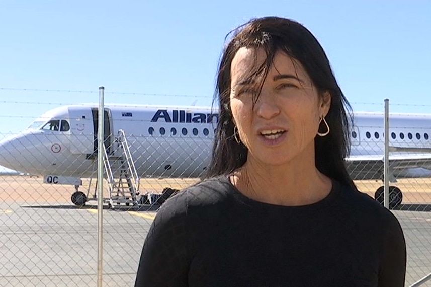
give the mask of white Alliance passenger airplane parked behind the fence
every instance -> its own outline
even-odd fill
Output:
[[[74,185],[72,203],[85,204],[89,199],[78,188],[81,178],[95,176],[98,112],[97,104],[45,112],[19,134],[0,141],[0,165],[43,176],[44,183]],[[354,119],[348,171],[354,180],[383,181],[384,114],[355,112]],[[108,157],[121,157],[116,133],[122,131],[139,178],[199,178],[210,161],[218,120],[217,110],[210,107],[107,104],[104,151]],[[389,131],[389,182],[431,177],[431,114],[390,114]],[[383,190],[381,186],[375,192],[382,204]],[[389,199],[390,208],[399,207],[401,190],[391,185]]]

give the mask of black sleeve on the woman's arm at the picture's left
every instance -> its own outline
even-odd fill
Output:
[[[135,287],[187,286],[187,201],[169,198],[157,211],[142,247]]]

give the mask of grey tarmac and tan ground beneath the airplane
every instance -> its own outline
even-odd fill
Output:
[[[160,192],[194,182],[143,179],[140,190]],[[373,196],[381,182],[358,181],[357,185]],[[403,205],[393,212],[407,241],[406,286],[410,286],[431,273],[431,180],[403,179],[397,186],[403,191]],[[85,186],[80,190],[87,193]],[[72,186],[43,184],[37,177],[0,177],[0,287],[97,285],[97,202],[78,208],[70,202],[73,191]],[[104,286],[133,285],[155,213],[154,206],[139,210],[105,206]],[[422,286],[428,285],[431,281]]]

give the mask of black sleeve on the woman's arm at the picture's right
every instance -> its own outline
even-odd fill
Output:
[[[390,213],[384,223],[379,287],[404,287],[406,274],[406,244],[397,218]]]

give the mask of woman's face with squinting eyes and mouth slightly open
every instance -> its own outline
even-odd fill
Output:
[[[243,47],[231,64],[230,107],[248,157],[270,165],[293,159],[314,163],[314,138],[320,117],[329,110],[330,95],[319,97],[302,65],[277,52],[253,109],[262,79],[250,81],[248,76],[265,59],[264,50]]]

